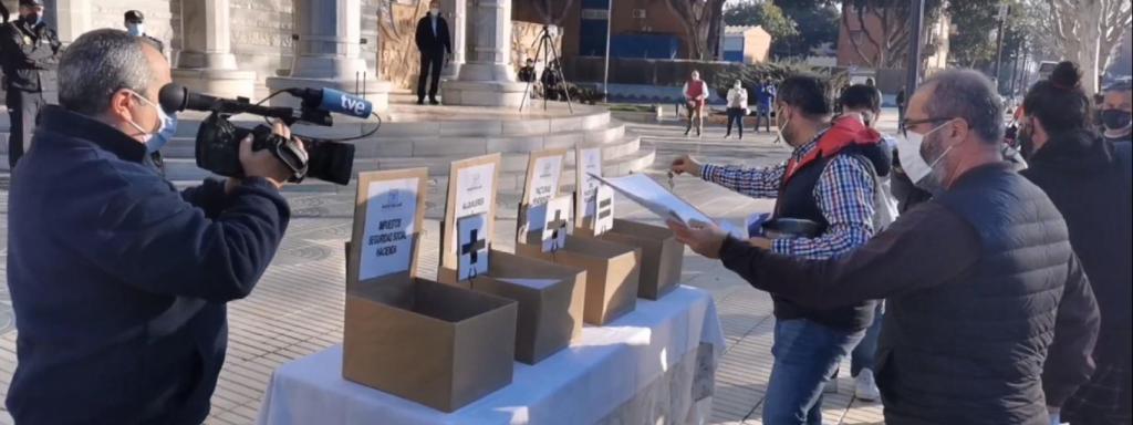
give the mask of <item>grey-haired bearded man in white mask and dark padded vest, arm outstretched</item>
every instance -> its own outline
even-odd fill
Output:
[[[991,82],[946,70],[910,99],[897,145],[934,197],[860,248],[802,260],[710,223],[670,228],[801,305],[886,299],[875,371],[887,424],[1048,424],[1093,371],[1099,315],[1062,214],[1003,161],[1002,137]]]

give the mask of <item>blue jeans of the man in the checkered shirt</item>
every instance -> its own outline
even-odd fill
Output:
[[[823,386],[866,331],[842,331],[794,318],[775,323],[775,365],[764,424],[823,424]]]

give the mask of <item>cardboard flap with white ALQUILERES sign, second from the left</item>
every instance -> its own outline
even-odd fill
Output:
[[[495,231],[495,196],[499,180],[496,176],[500,172],[500,154],[452,163],[449,171],[449,201],[441,230],[442,252],[438,275],[449,275],[459,278],[459,281],[466,281],[467,275],[472,272],[470,269],[461,267],[462,263],[471,261],[471,257],[466,255],[463,249],[470,232],[459,231],[460,221],[465,218],[482,218],[480,226],[475,228],[476,238],[484,241],[485,249],[491,247],[492,235]],[[471,224],[465,223],[465,226]],[[484,264],[476,269],[478,272],[487,270],[487,255],[480,256],[480,254],[486,254],[485,249],[476,249],[478,252],[477,261],[484,261]],[[461,271],[469,273],[461,273]],[[442,281],[445,280],[442,279]]]

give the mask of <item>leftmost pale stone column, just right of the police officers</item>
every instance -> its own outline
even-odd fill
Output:
[[[173,82],[212,95],[252,97],[256,73],[236,66],[231,31],[229,0],[181,0],[184,48]]]

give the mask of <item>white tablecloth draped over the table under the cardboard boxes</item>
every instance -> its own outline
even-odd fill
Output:
[[[680,287],[656,301],[638,299],[634,312],[606,326],[583,328],[571,347],[535,366],[517,362],[511,385],[452,414],[343,380],[342,346],[334,346],[280,366],[264,394],[258,422],[591,424],[624,408],[674,365],[695,362],[698,351],[701,357],[710,352],[710,374],[723,349],[712,297]],[[704,396],[708,394],[698,397]]]

